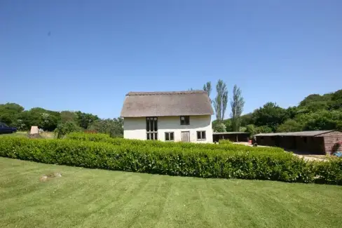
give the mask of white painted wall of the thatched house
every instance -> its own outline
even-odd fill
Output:
[[[181,125],[179,118],[179,116],[158,116],[158,140],[165,141],[165,132],[173,132],[175,142],[181,141],[181,132],[190,131],[190,142],[212,142],[212,116],[190,116],[189,125]],[[198,130],[205,130],[206,140],[197,140]],[[124,118],[123,137],[146,140],[146,118]]]

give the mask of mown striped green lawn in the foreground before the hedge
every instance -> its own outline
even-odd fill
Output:
[[[62,173],[47,182],[39,177]],[[341,227],[342,187],[0,158],[0,227]]]

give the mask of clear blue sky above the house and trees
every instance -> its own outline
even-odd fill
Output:
[[[114,118],[129,91],[223,79],[245,113],[297,105],[342,88],[341,12],[339,0],[1,0],[0,103]]]

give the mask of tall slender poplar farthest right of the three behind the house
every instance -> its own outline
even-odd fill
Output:
[[[245,100],[242,98],[242,91],[238,86],[234,85],[233,88],[233,100],[231,100],[231,122],[233,131],[239,131],[241,125],[241,114]]]

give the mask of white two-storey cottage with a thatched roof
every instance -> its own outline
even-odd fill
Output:
[[[121,110],[123,137],[212,142],[213,113],[204,90],[130,92]]]

